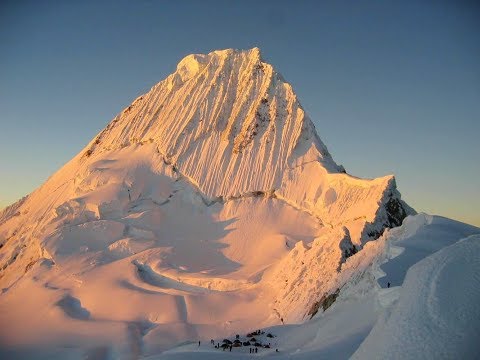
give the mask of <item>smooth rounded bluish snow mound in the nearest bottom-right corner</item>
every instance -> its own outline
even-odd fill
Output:
[[[480,346],[480,235],[412,266],[395,307],[355,359],[474,359]]]

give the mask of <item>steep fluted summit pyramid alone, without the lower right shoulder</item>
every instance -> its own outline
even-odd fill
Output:
[[[286,170],[311,161],[327,172],[342,170],[292,87],[261,60],[258,48],[185,57],[85,154],[145,142],[155,143],[210,197],[279,188]]]

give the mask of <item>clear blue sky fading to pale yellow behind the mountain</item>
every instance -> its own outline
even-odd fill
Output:
[[[335,160],[480,225],[474,1],[1,1],[0,207],[190,53],[260,47]]]

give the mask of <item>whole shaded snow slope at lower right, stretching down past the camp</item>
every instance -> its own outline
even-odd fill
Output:
[[[449,231],[443,232],[446,229]],[[443,236],[439,235],[442,232]],[[432,251],[419,258],[418,246]],[[478,228],[425,214],[409,217],[403,226],[347,260],[342,273],[349,280],[325,312],[303,324],[264,329],[276,337],[262,339],[273,346],[261,348],[259,355],[288,359],[475,359],[480,335],[479,250]],[[404,273],[403,264],[395,262],[400,251],[417,262],[409,267],[399,286],[382,288],[378,282],[384,275],[382,267],[391,265],[390,275]],[[234,348],[228,356],[251,358],[247,347]],[[192,358],[226,356],[210,344],[191,344],[148,359]]]

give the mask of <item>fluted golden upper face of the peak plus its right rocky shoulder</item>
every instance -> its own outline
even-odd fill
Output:
[[[347,226],[357,242],[405,217],[392,176],[343,174],[291,85],[258,48],[185,57],[115,117],[84,156],[145,143],[209,199],[275,194],[325,224]],[[390,214],[381,209],[387,203]]]

